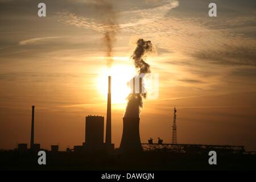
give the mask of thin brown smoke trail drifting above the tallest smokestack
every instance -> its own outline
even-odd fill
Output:
[[[104,0],[97,0],[97,11],[102,20],[102,28],[104,31],[104,44],[106,48],[107,66],[111,67],[113,64],[113,44],[116,41],[115,35],[119,29],[116,13],[113,5]]]

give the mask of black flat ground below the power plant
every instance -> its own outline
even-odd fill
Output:
[[[207,154],[47,152],[39,165],[36,152],[11,150],[0,151],[0,170],[256,170],[256,155],[217,154],[217,165],[209,165]]]

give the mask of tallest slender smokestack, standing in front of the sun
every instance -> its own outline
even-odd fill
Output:
[[[108,106],[106,118],[106,144],[111,144],[111,76],[109,76]]]

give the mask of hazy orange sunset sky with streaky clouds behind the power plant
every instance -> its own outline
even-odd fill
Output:
[[[46,17],[38,16],[40,2]],[[216,17],[208,15],[210,2]],[[154,46],[146,62],[159,74],[159,97],[144,100],[142,142],[171,142],[176,106],[178,143],[255,151],[255,7],[254,0],[0,0],[0,148],[29,143],[32,105],[35,143],[81,145],[85,116],[106,118],[109,69],[119,147],[123,85],[136,72],[130,56],[143,38]],[[116,26],[111,68],[104,42],[109,18]]]

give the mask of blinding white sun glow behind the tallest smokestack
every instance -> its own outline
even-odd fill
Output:
[[[115,64],[111,68],[102,68],[97,80],[98,92],[101,98],[108,98],[108,76],[112,76],[112,104],[126,104],[126,97],[130,93],[127,82],[135,75],[133,65]]]

